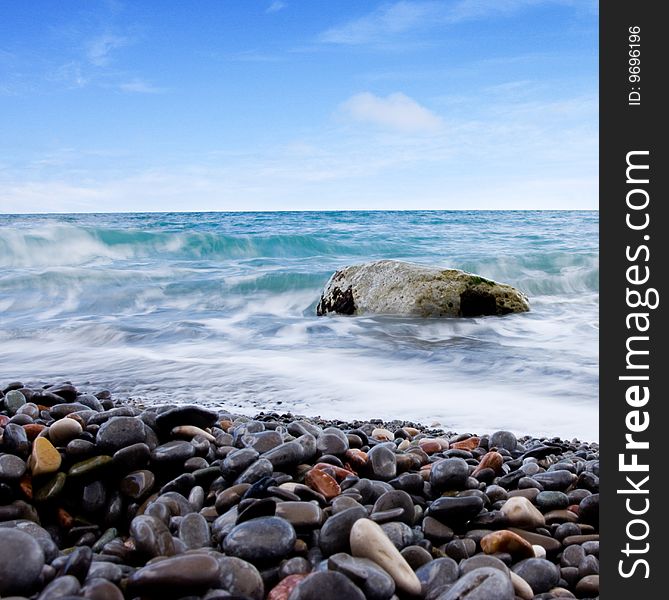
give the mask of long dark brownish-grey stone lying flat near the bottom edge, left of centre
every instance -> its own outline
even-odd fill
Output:
[[[128,589],[135,595],[199,595],[218,583],[218,569],[211,556],[182,554],[138,569],[128,578]]]

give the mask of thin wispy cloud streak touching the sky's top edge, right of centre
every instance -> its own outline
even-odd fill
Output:
[[[588,0],[589,1],[589,0]],[[457,2],[410,2],[383,4],[374,11],[337,25],[318,36],[329,44],[359,45],[387,42],[389,38],[430,27],[463,21],[510,15],[542,4],[563,4],[579,8],[585,0],[459,0]]]

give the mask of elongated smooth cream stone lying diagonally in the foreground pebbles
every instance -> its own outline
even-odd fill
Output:
[[[351,528],[350,544],[353,556],[374,561],[390,574],[398,589],[408,594],[420,594],[421,583],[418,577],[383,529],[374,521],[356,521]]]

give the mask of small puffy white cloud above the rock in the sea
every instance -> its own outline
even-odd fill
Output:
[[[354,121],[407,133],[435,132],[443,125],[439,116],[400,92],[385,98],[370,92],[356,94],[340,110]]]

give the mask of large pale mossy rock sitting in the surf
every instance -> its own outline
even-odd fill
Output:
[[[530,309],[527,297],[504,283],[457,269],[379,260],[345,267],[325,286],[316,312],[419,317],[479,317]]]

